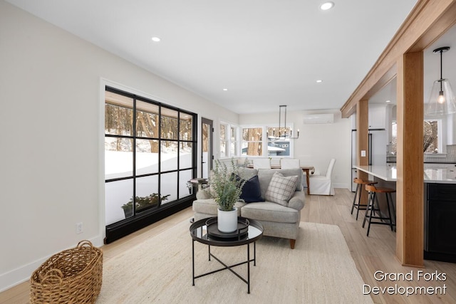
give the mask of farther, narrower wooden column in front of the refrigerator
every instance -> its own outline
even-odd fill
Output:
[[[359,100],[356,103],[356,163],[360,166],[369,164],[369,114],[368,100]],[[361,151],[365,151],[365,155],[361,156]],[[358,179],[368,179],[368,174],[358,170]],[[361,201],[368,201],[368,192],[366,189],[361,190]]]

